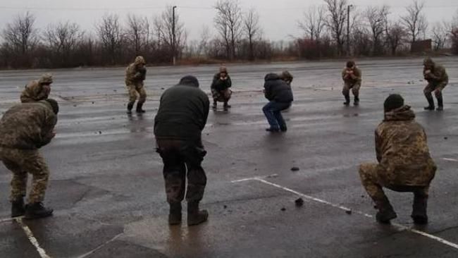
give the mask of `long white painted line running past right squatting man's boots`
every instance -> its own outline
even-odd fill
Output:
[[[292,189],[290,189],[290,188],[285,188],[285,187],[283,187],[283,186],[281,186],[281,185],[278,185],[278,184],[276,184],[276,183],[271,183],[271,182],[269,182],[269,181],[267,181],[267,180],[264,180],[264,179],[262,179],[262,178],[259,178],[259,177],[255,177],[255,178],[244,178],[244,179],[241,179],[241,180],[233,180],[233,181],[231,181],[231,182],[232,182],[232,183],[238,183],[238,182],[244,182],[244,181],[249,181],[249,180],[256,180],[256,181],[259,181],[259,182],[261,182],[261,183],[265,183],[266,185],[271,185],[271,186],[273,186],[273,187],[275,187],[275,188],[280,188],[280,189],[283,189],[283,190],[285,190],[285,191],[287,191],[287,192],[292,192],[292,193],[295,194],[295,195],[299,195],[299,196],[301,196],[301,197],[310,199],[310,200],[315,201],[315,202],[320,202],[320,203],[322,203],[322,204],[330,205],[330,206],[332,206],[332,207],[335,207],[335,208],[338,208],[338,209],[342,209],[342,210],[344,210],[344,211],[352,211],[352,213],[361,214],[362,216],[366,216],[366,217],[368,217],[368,218],[373,218],[373,216],[372,216],[371,214],[366,214],[366,213],[364,213],[364,212],[362,212],[362,211],[355,211],[355,210],[349,209],[349,208],[347,208],[347,207],[345,207],[345,206],[338,205],[338,204],[333,204],[333,203],[331,203],[331,202],[325,201],[325,200],[323,200],[323,199],[318,199],[318,198],[312,197],[312,196],[310,196],[310,195],[304,195],[302,192],[297,192],[297,191],[292,190]],[[444,244],[444,245],[448,245],[448,246],[450,246],[450,247],[453,247],[454,249],[458,249],[458,245],[455,244],[454,242],[447,241],[447,240],[445,240],[445,239],[443,239],[443,238],[439,238],[439,237],[437,237],[437,236],[435,236],[435,235],[431,235],[431,234],[428,234],[428,233],[426,233],[426,232],[416,230],[416,229],[414,229],[414,228],[408,228],[407,226],[403,226],[403,225],[400,225],[400,224],[397,224],[397,223],[392,223],[391,225],[392,225],[392,226],[395,226],[396,228],[398,228],[398,229],[401,230],[401,231],[409,231],[409,232],[411,232],[411,233],[416,233],[416,234],[418,234],[418,235],[423,235],[423,236],[426,237],[426,238],[430,238],[430,239],[432,239],[432,240],[436,240],[436,241],[438,241],[438,242],[441,242],[441,243]]]

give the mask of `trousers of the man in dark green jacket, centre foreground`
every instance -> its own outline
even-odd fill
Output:
[[[206,175],[201,164],[206,151],[202,144],[185,140],[156,140],[157,152],[163,160],[167,202],[174,204],[185,198],[200,202],[204,197]],[[187,190],[185,189],[187,178]]]

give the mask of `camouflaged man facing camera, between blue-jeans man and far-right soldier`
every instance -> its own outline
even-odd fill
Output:
[[[357,68],[354,61],[348,61],[347,66],[342,70],[342,79],[344,80],[344,87],[342,94],[345,97],[344,105],[350,104],[350,89],[352,89],[354,96],[354,106],[359,105],[359,88],[361,88],[361,70]]]

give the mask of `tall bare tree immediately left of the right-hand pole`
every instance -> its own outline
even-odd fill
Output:
[[[326,25],[328,26],[335,43],[338,47],[338,54],[343,54],[344,49],[344,26],[347,22],[347,0],[324,0],[328,8],[328,19]]]

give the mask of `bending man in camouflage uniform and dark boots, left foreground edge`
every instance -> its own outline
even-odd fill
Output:
[[[0,160],[13,172],[11,180],[11,217],[38,219],[51,216],[43,206],[49,169],[38,149],[56,135],[58,104],[54,99],[18,104],[8,109],[0,120]],[[32,190],[24,205],[27,173],[32,174]]]

